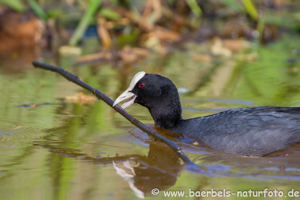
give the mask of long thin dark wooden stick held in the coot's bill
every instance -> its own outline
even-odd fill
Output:
[[[90,91],[93,93],[98,99],[104,101],[115,109],[117,112],[119,112],[123,117],[125,117],[128,121],[131,122],[134,126],[138,127],[148,135],[152,136],[154,139],[158,139],[164,144],[168,145],[173,151],[177,153],[177,155],[184,161],[185,163],[185,168],[187,170],[197,172],[197,173],[202,173],[203,169],[200,169],[195,163],[193,163],[182,151],[181,148],[172,140],[167,139],[166,137],[162,136],[160,133],[157,131],[151,129],[147,125],[143,124],[142,122],[138,121],[136,118],[131,116],[126,110],[122,109],[121,106],[116,105],[113,107],[114,101],[110,99],[106,94],[103,94],[101,91],[91,87],[90,85],[86,84],[85,82],[81,81],[78,76],[68,72],[67,70],[60,68],[60,67],[55,67],[50,64],[38,62],[38,61],[32,61],[32,64],[37,67],[37,68],[42,68],[45,70],[50,70],[56,73],[59,73],[61,76],[64,78],[68,79],[69,81],[76,83],[77,85],[81,86],[82,88]]]

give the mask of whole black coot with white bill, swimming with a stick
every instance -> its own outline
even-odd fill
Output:
[[[220,151],[263,156],[300,142],[300,107],[255,106],[214,115],[182,119],[179,94],[173,82],[158,74],[137,73],[115,106],[138,103],[148,108],[155,125],[196,137]]]

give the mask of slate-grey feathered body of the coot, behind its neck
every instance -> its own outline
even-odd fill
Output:
[[[300,142],[300,107],[230,109],[184,120],[178,130],[220,151],[263,156]]]

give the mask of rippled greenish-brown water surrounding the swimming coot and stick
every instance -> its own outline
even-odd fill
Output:
[[[300,57],[294,50],[300,41],[283,40],[229,58],[214,57],[211,62],[193,59],[194,53],[205,52],[207,43],[187,43],[188,50],[174,48],[164,57],[153,53],[132,65],[76,65],[74,57],[32,57],[43,57],[45,62],[79,75],[112,99],[128,87],[138,71],[159,73],[180,88],[183,118],[187,119],[233,107],[300,106]],[[253,52],[259,56],[248,61]],[[300,190],[299,145],[268,157],[244,157],[156,128],[203,169],[194,174],[184,169],[169,147],[136,129],[105,103],[65,101],[76,92],[88,93],[29,62],[28,56],[0,62],[1,200],[165,199],[164,191],[185,192],[183,197],[170,199],[240,199],[238,191],[265,188],[282,191],[282,198],[288,199],[295,198],[288,196],[292,188]],[[132,105],[127,111],[154,127],[146,108]],[[160,190],[157,195],[151,193],[155,188]],[[190,189],[225,189],[231,196],[190,197]],[[255,197],[263,198],[263,193]],[[267,198],[278,199],[278,193],[276,198],[267,193]],[[253,194],[247,193],[243,199],[253,199]]]

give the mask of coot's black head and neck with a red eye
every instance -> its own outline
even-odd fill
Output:
[[[172,127],[182,120],[179,94],[170,79],[158,74],[146,73],[141,79],[135,81],[133,89],[132,87],[126,94],[126,91],[121,94],[120,99],[118,97],[119,100],[123,96],[129,98],[127,94],[131,93],[131,99],[123,104],[126,105],[125,107],[128,106],[128,102],[145,106],[148,108],[155,125],[167,130],[172,130]]]

